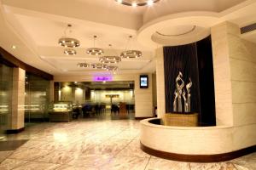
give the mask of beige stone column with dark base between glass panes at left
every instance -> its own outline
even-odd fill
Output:
[[[9,130],[19,132],[24,128],[24,105],[25,105],[25,75],[20,68],[13,71],[12,113]]]

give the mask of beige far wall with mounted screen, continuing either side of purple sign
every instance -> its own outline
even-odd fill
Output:
[[[133,75],[113,75],[113,81],[134,81],[135,95],[135,116],[151,117],[153,116],[153,97],[152,97],[152,74],[148,73],[148,88],[139,87],[139,74]],[[92,82],[93,77],[88,76],[55,76],[54,82]]]

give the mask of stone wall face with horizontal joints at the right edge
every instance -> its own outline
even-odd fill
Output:
[[[231,30],[239,29],[236,25],[229,24]],[[256,123],[256,44],[241,39],[240,33],[228,32],[230,54],[230,71],[232,86],[232,106],[234,125],[236,131],[234,138],[247,135],[256,130],[252,124]],[[240,129],[240,130],[239,130]],[[241,135],[238,135],[241,133]],[[251,140],[249,135],[241,139]],[[239,138],[238,138],[239,139]],[[255,136],[254,136],[255,139]],[[248,144],[246,141],[236,140],[239,146]],[[256,142],[254,141],[254,144]]]

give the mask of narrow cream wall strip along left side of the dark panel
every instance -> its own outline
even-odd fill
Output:
[[[156,84],[157,114],[158,117],[164,117],[166,114],[166,94],[163,47],[156,49]]]

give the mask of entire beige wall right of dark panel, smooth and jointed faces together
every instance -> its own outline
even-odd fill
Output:
[[[233,150],[256,144],[256,44],[238,26],[212,27],[217,125],[233,126]]]

